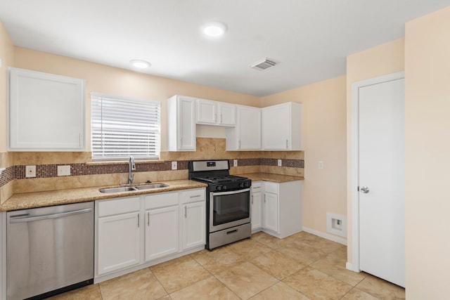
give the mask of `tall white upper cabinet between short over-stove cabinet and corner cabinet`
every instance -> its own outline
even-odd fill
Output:
[[[261,109],[237,105],[236,127],[226,129],[226,150],[261,149]]]

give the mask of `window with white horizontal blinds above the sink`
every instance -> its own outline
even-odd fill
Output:
[[[160,101],[91,93],[92,159],[158,159],[160,112]]]

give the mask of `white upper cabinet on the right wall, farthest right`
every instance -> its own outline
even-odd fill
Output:
[[[302,150],[302,104],[262,108],[262,149]]]

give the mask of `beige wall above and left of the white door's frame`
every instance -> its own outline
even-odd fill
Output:
[[[404,70],[404,38],[347,56],[347,261],[352,263],[352,84]]]

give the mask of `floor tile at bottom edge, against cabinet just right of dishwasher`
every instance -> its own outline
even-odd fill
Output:
[[[158,299],[167,295],[155,275],[148,269],[100,283],[103,300],[108,299]]]

